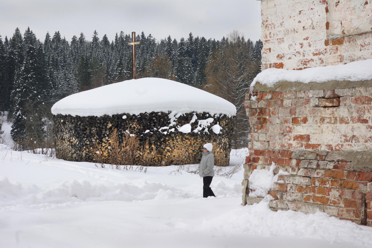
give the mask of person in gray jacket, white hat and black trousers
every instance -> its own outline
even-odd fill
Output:
[[[210,187],[214,176],[214,155],[212,153],[212,144],[207,143],[203,146],[202,160],[199,165],[199,175],[203,177],[203,197],[214,196]]]

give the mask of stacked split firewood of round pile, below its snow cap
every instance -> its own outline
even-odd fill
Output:
[[[213,144],[215,165],[227,166],[230,160],[232,119],[234,117],[209,113],[150,112],[112,116],[53,116],[57,158],[68,161],[112,163],[112,156],[123,156],[125,149],[115,153],[113,132],[118,145],[129,137],[138,139],[133,164],[180,165],[198,164],[203,145]],[[185,125],[189,130],[185,131]],[[191,127],[191,129],[190,129]],[[116,164],[128,161],[115,160]]]

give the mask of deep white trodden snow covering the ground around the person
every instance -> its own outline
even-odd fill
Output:
[[[233,150],[219,174],[246,153]],[[203,199],[196,168],[116,170],[0,144],[0,247],[372,247],[371,227],[272,212],[267,201],[241,206],[243,169],[215,176],[217,197]]]

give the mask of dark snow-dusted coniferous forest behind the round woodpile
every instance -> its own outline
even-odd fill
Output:
[[[91,40],[91,41],[90,41]],[[0,35],[0,111],[8,112],[11,135],[20,146],[52,142],[51,106],[73,93],[132,78],[131,34],[109,41],[96,31],[70,41],[60,32],[44,41],[28,28],[22,35]],[[136,37],[137,78],[168,78],[216,94],[237,107],[233,148],[247,145],[250,132],[244,96],[260,72],[262,42],[237,31],[221,40],[168,36],[157,41],[143,32]],[[110,96],[107,96],[110,97]],[[0,123],[1,130],[1,123]],[[1,135],[1,133],[0,133]]]

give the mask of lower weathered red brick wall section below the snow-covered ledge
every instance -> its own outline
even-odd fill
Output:
[[[272,210],[321,211],[372,226],[372,81],[291,85],[301,90],[257,83],[257,100],[246,95],[243,205],[260,200],[248,195],[252,171],[274,162],[275,173],[289,175],[268,192]]]

